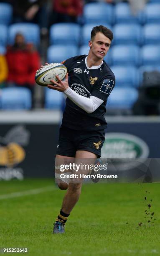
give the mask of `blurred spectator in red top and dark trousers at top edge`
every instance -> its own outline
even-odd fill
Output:
[[[83,11],[83,0],[52,0],[53,13],[51,24],[59,22],[77,22]]]

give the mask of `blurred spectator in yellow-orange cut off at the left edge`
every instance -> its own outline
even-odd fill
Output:
[[[5,81],[8,75],[8,67],[5,56],[0,55],[0,88],[5,86]]]

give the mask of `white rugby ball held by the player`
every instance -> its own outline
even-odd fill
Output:
[[[64,80],[67,74],[67,68],[61,63],[50,63],[38,69],[35,75],[36,83],[42,86],[53,84],[51,80],[57,82],[56,75]]]

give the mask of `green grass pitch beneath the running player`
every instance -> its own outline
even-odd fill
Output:
[[[39,188],[46,190],[33,194]],[[30,195],[13,194],[24,191]],[[66,233],[52,235],[64,193],[52,179],[0,181],[1,253],[28,248],[23,254],[160,255],[160,184],[84,184]]]

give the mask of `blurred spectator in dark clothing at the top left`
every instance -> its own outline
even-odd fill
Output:
[[[32,22],[40,28],[48,27],[48,0],[12,0],[10,3],[13,5],[14,22]]]

